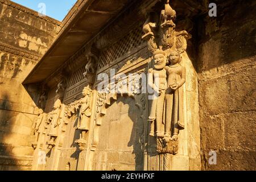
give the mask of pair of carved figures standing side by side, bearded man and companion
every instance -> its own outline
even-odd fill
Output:
[[[177,139],[179,129],[184,129],[181,86],[185,82],[185,68],[179,64],[180,59],[179,52],[171,52],[167,64],[163,51],[154,52],[153,68],[148,70],[148,84],[154,89],[148,117],[151,122],[151,136],[156,134],[156,137],[160,138]]]

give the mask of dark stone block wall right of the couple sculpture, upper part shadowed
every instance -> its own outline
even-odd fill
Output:
[[[198,73],[203,170],[255,170],[255,2],[200,17]],[[209,151],[217,164],[209,165]]]

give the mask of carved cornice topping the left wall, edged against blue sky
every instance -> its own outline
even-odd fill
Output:
[[[7,0],[0,0],[0,3],[2,3],[4,5],[7,5],[7,6],[10,6],[10,7],[13,7],[14,9],[17,9],[19,11],[23,11],[24,13],[27,13],[29,15],[35,16],[36,18],[40,18],[42,20],[45,20],[46,22],[55,24],[56,26],[61,26],[62,25],[62,23],[59,22],[56,19],[50,18],[49,16],[39,16],[38,12],[36,12],[34,10],[31,10],[31,9],[28,9],[27,7],[21,6],[17,3],[15,3],[15,2],[7,1]]]

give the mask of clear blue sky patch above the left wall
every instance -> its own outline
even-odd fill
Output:
[[[42,5],[40,3],[44,3],[46,6],[46,15],[57,20],[62,21],[65,18],[65,15],[68,14],[68,11],[72,8],[72,6],[76,3],[76,0],[11,0],[20,5],[26,6],[32,10],[42,11]],[[38,7],[40,6],[40,7]]]

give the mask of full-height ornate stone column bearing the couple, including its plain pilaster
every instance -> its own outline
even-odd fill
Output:
[[[197,76],[185,52],[191,35],[185,30],[176,30],[175,18],[176,11],[167,0],[164,9],[150,13],[143,24],[142,39],[147,41],[148,51],[153,56],[148,70],[152,97],[148,117],[150,150],[148,148],[145,169],[188,170],[190,158],[200,163],[200,143],[191,135],[200,130],[198,127],[191,131],[188,126],[190,122],[199,122],[198,100],[195,104],[190,102],[191,97],[197,98],[197,84],[191,86]],[[155,151],[152,151],[154,145]],[[193,154],[189,154],[189,150]],[[151,163],[155,152],[158,154],[156,162]]]

